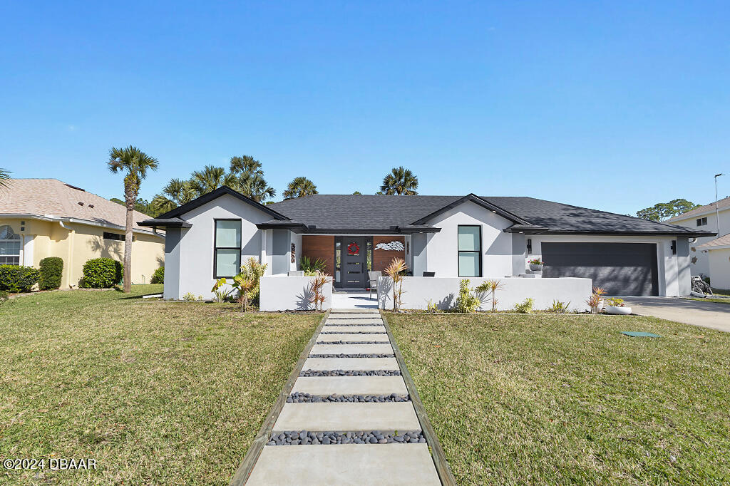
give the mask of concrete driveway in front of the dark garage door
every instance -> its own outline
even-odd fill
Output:
[[[730,304],[674,297],[625,297],[635,314],[730,332]]]

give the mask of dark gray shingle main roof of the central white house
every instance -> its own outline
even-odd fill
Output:
[[[315,194],[287,199],[269,207],[291,220],[316,225],[317,230],[372,230],[391,226],[404,228],[463,198],[465,196]],[[682,226],[530,197],[478,196],[478,199],[502,209],[507,219],[514,220],[520,231],[533,225],[547,228],[550,233],[709,234]]]

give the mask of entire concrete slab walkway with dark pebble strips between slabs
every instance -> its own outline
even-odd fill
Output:
[[[377,344],[317,344],[333,341]],[[309,376],[328,374],[328,371],[335,371],[335,375],[354,371],[358,376]],[[371,371],[386,376],[368,376]],[[333,309],[312,346],[310,358],[304,361],[290,398],[307,393],[323,398],[376,396],[395,400],[391,397],[398,397],[398,401],[288,401],[274,423],[272,440],[264,446],[246,484],[440,485],[429,444],[405,435],[420,431],[420,423],[399,371],[377,311]],[[299,432],[296,439],[290,438],[288,442],[281,439],[285,433],[291,437],[292,431]],[[353,444],[350,439],[350,436],[358,437],[359,432],[372,431],[391,438],[391,442],[380,439],[376,443]],[[337,444],[328,444],[329,439],[321,443],[315,439],[320,433],[331,432],[350,434],[346,438],[341,436],[342,443]],[[277,441],[283,444],[275,444]]]

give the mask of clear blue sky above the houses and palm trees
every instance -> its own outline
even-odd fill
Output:
[[[281,193],[534,196],[631,213],[730,174],[730,3],[4,2],[0,166],[120,196],[253,155]],[[730,176],[720,180],[730,194]]]

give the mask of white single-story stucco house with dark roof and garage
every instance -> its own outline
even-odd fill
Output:
[[[529,197],[314,195],[264,206],[227,187],[141,224],[166,230],[164,297],[173,299],[210,297],[215,280],[233,277],[246,258],[285,276],[302,255],[326,262],[335,290],[366,288],[367,271],[395,257],[409,275],[449,279],[518,277],[542,258],[543,279],[681,296],[690,290],[690,240],[712,236]]]

